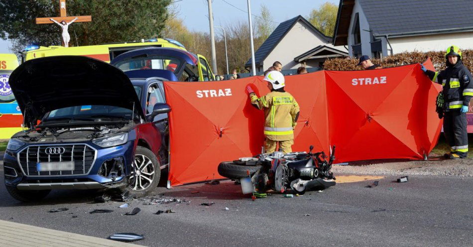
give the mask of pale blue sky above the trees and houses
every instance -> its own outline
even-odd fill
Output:
[[[207,0],[174,1],[179,10],[178,17],[184,20],[184,24],[189,30],[209,32]],[[270,9],[273,21],[279,23],[299,14],[306,17],[312,9],[318,8],[327,1],[339,4],[339,0],[251,0],[251,13],[259,15],[260,6],[264,4]],[[245,12],[247,10],[246,0],[213,0],[212,8],[215,25],[248,20],[248,15]],[[254,19],[254,16],[252,18]],[[8,45],[8,41],[0,39],[0,53],[10,53]]]

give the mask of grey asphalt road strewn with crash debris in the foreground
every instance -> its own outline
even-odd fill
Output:
[[[144,246],[473,245],[473,178],[393,180],[382,179],[375,188],[365,188],[368,181],[345,183],[322,193],[294,198],[274,194],[254,202],[230,181],[194,184],[156,190],[164,198],[185,199],[189,204],[143,205],[133,200],[129,208],[118,208],[121,202],[94,203],[87,191],[57,191],[39,204],[22,204],[2,185],[0,219],[99,238],[143,234],[146,239],[135,244]],[[215,204],[200,205],[205,202]],[[48,213],[63,207],[70,210]],[[122,216],[134,207],[142,211]],[[114,212],[88,213],[94,209]],[[166,209],[176,213],[153,214]]]

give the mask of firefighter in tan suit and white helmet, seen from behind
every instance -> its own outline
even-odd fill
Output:
[[[284,91],[284,76],[279,71],[270,71],[264,77],[271,92],[258,98],[251,86],[246,87],[251,104],[264,110],[264,135],[266,152],[276,151],[276,146],[284,153],[292,152],[294,128],[299,117],[299,105],[296,99]]]

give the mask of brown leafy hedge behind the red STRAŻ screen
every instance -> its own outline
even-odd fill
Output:
[[[463,63],[465,66],[472,71],[473,70],[473,50],[462,50]],[[380,64],[384,68],[401,66],[413,63],[422,63],[430,57],[436,70],[444,70],[445,64],[445,51],[429,51],[429,52],[403,52],[394,54],[392,56],[384,57],[380,59],[372,59],[374,64]],[[361,70],[360,66],[356,66],[358,59],[343,59],[334,58],[327,59],[324,63],[324,69],[326,70]]]

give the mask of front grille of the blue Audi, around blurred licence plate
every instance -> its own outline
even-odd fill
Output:
[[[46,154],[48,147],[63,147],[62,154]],[[96,157],[96,150],[85,144],[28,146],[18,153],[18,161],[26,176],[64,176],[88,174]],[[73,171],[38,171],[41,162],[73,161]]]

